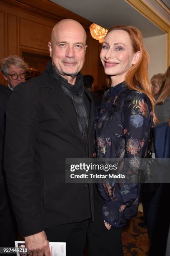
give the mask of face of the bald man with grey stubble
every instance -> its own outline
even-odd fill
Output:
[[[82,29],[62,26],[49,43],[50,56],[57,72],[67,79],[75,77],[85,61],[86,36]]]

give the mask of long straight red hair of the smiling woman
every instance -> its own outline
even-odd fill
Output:
[[[140,51],[140,58],[138,62],[128,69],[125,77],[125,83],[129,89],[144,92],[148,96],[152,105],[153,121],[154,123],[157,123],[158,119],[154,111],[155,99],[151,92],[150,80],[148,76],[150,57],[143,44],[142,33],[138,30],[138,28],[133,26],[114,26],[108,30],[107,34],[114,30],[126,31],[130,36],[134,53]],[[110,77],[107,79],[107,84],[111,85]]]

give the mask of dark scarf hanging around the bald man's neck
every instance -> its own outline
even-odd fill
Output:
[[[84,95],[84,85],[82,74],[78,74],[74,85],[67,82],[67,79],[63,78],[58,74],[55,67],[52,66],[52,61],[47,63],[46,70],[51,77],[54,77],[58,82],[60,82],[60,87],[65,92],[65,94],[72,99],[75,111],[77,113],[77,122],[80,130],[80,136],[82,139],[87,139],[88,132],[88,118],[87,109],[83,99]]]

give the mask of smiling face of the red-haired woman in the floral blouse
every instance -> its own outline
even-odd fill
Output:
[[[128,69],[138,61],[139,57],[140,51],[133,52],[128,32],[114,30],[105,37],[100,59],[105,74],[110,75],[111,80],[116,80],[117,83],[123,82]]]

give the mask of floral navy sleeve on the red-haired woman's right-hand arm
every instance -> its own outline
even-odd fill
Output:
[[[135,170],[140,159],[145,157],[150,126],[152,123],[152,111],[150,101],[144,93],[133,91],[125,100],[122,107],[122,128],[125,140],[125,159],[129,159],[128,168],[124,169],[127,177],[135,177]],[[132,164],[130,164],[132,163]],[[135,174],[135,175],[134,175]],[[137,178],[137,177],[136,177]],[[137,182],[137,179],[135,179]],[[115,227],[125,225],[125,218],[132,218],[136,214],[139,195],[139,184],[116,182],[111,187],[110,200],[103,206],[102,214],[106,223]],[[105,184],[109,186],[109,184]],[[136,204],[135,207],[134,204]]]

